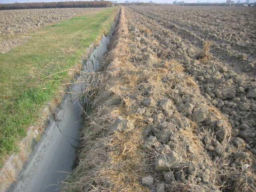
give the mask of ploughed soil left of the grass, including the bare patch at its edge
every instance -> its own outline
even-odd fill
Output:
[[[0,10],[0,53],[22,44],[29,38],[26,35],[29,30],[99,9],[102,8]]]

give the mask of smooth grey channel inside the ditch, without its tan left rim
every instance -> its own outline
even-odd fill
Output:
[[[115,22],[116,23],[116,22]],[[103,35],[86,60],[83,60],[83,72],[97,71],[100,60],[108,50],[114,34],[112,25],[108,36]],[[82,74],[81,73],[81,74]],[[55,114],[48,120],[48,128],[35,145],[30,160],[19,174],[18,180],[9,191],[14,192],[58,192],[60,182],[72,171],[79,144],[80,131],[83,128],[81,92],[86,84],[81,83],[81,76],[66,94]]]

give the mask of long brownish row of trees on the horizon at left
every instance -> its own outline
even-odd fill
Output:
[[[11,9],[43,9],[43,8],[94,8],[112,7],[109,1],[67,1],[67,2],[36,2],[36,3],[11,3],[0,4],[0,10]]]

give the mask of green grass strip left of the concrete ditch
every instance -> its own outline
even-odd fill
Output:
[[[79,64],[86,49],[109,32],[117,12],[116,7],[106,8],[46,26],[0,54],[0,167],[7,154],[18,150],[17,141],[36,123],[42,106],[70,78],[64,70]]]

